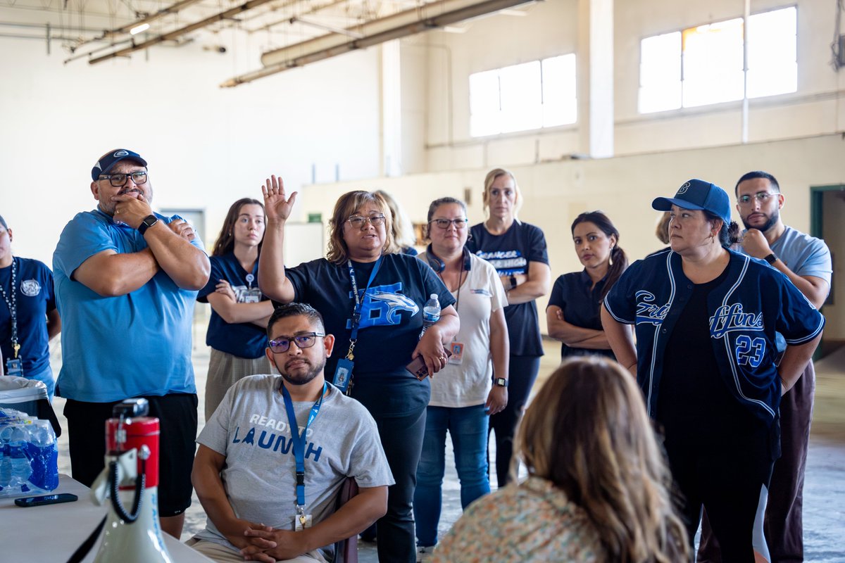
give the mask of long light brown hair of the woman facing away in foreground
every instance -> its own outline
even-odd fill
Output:
[[[616,362],[594,356],[560,365],[526,410],[514,458],[581,506],[604,560],[690,559],[641,392]]]

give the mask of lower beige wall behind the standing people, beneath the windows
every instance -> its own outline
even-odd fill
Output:
[[[651,200],[672,195],[684,181],[693,177],[713,181],[733,196],[733,186],[745,172],[771,171],[788,197],[782,214],[784,221],[807,232],[810,230],[810,186],[842,181],[845,178],[842,154],[845,154],[845,140],[839,135],[826,135],[606,160],[516,165],[510,169],[525,198],[520,218],[538,225],[545,232],[553,278],[556,278],[581,269],[570,235],[575,215],[585,210],[602,209],[619,228],[619,244],[633,261],[662,247],[654,235],[659,214],[651,209]],[[303,213],[319,212],[326,219],[341,193],[379,188],[392,193],[414,222],[424,222],[428,204],[433,199],[442,196],[462,198],[468,187],[472,190],[469,211],[474,224],[484,218],[481,192],[486,172],[486,169],[445,171],[307,186],[298,205],[302,206]],[[734,219],[739,220],[735,210]],[[548,298],[539,300],[541,310],[547,301]],[[545,323],[541,324],[544,330]]]

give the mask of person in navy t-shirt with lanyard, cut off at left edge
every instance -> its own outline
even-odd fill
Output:
[[[50,338],[62,330],[50,268],[12,255],[12,230],[0,216],[0,375],[44,382],[52,401]]]

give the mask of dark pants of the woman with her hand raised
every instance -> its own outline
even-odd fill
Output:
[[[387,514],[376,522],[379,561],[384,563],[417,561],[412,509],[414,489],[417,486],[417,464],[423,451],[425,414],[426,409],[423,408],[406,416],[373,415],[379,426],[384,455],[396,481],[387,490]]]

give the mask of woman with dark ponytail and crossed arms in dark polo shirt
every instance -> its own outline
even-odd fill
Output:
[[[560,357],[603,355],[613,358],[602,328],[602,300],[628,268],[619,247],[619,230],[601,211],[582,213],[572,222],[581,272],[564,273],[555,282],[546,307],[548,335],[560,340]]]

